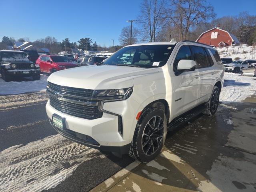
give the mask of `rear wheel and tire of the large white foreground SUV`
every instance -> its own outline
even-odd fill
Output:
[[[206,104],[206,110],[203,112],[205,115],[212,116],[216,113],[220,100],[220,89],[217,86],[214,86],[212,95],[209,101]]]

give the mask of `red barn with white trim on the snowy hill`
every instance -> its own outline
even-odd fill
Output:
[[[216,47],[225,47],[229,45],[239,45],[240,42],[230,32],[222,30],[218,27],[214,27],[204,33],[202,33],[196,42],[205,43],[208,45],[214,45]]]

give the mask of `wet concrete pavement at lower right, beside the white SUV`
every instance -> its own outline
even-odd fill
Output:
[[[91,191],[256,191],[256,95],[224,102],[169,133],[161,154],[135,161]]]

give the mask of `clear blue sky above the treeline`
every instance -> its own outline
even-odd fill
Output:
[[[77,42],[89,37],[101,46],[119,44],[121,29],[136,19],[140,0],[0,0],[2,36],[30,37],[31,41],[54,36]],[[207,0],[217,17],[248,11],[256,14],[256,0]],[[243,3],[244,2],[244,3]],[[136,24],[135,24],[136,25]]]

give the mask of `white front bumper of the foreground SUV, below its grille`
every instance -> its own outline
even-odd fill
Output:
[[[131,108],[131,106],[135,107]],[[131,98],[124,101],[104,103],[104,110],[113,114],[103,112],[102,118],[88,120],[64,114],[53,108],[48,101],[46,113],[51,124],[53,114],[65,118],[66,128],[64,130],[53,126],[62,136],[91,148],[126,154],[129,151],[136,127],[136,114],[139,107],[140,105]],[[122,135],[118,132],[120,126],[118,116],[122,118]]]

